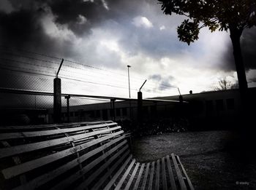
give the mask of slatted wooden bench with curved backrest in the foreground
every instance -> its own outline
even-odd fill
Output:
[[[132,158],[116,122],[0,127],[0,189],[193,189],[179,157]]]

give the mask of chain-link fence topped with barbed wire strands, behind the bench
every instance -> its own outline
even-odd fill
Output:
[[[54,119],[53,80],[61,58],[24,50],[0,47],[0,119],[1,125],[51,124]],[[112,97],[128,92],[124,76],[72,60],[64,60],[61,79],[59,122],[113,120],[124,128],[170,125],[176,116],[176,104],[165,100],[142,100],[138,114],[136,98]],[[126,76],[125,76],[126,77]],[[142,83],[138,82],[137,83]],[[102,94],[95,95],[95,89]],[[131,89],[138,92],[137,89]],[[133,93],[135,94],[135,93]],[[109,96],[108,96],[109,95]],[[166,122],[169,119],[169,122]],[[159,124],[159,122],[161,124]],[[172,125],[172,124],[171,124]],[[165,127],[166,128],[166,127]],[[171,127],[173,129],[173,127]],[[145,129],[144,129],[145,130]]]

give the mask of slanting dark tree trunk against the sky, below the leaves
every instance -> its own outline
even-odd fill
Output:
[[[246,92],[248,89],[246,74],[244,69],[244,61],[241,54],[241,46],[240,46],[240,37],[242,30],[238,30],[237,28],[230,28],[230,39],[233,44],[233,55],[235,58],[236,64],[236,72],[238,76],[238,84],[239,90],[241,94],[241,103],[242,106],[246,106]]]

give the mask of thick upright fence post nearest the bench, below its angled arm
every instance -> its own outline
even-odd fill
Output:
[[[53,120],[61,122],[61,79],[53,80]]]

